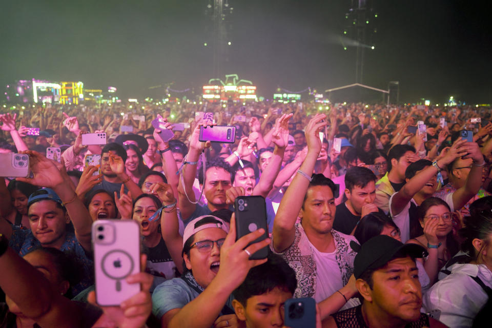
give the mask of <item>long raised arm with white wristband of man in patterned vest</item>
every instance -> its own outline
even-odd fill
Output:
[[[305,136],[308,144],[308,154],[299,170],[308,176],[313,174],[318,154],[321,151],[321,140],[319,139],[318,131],[326,125],[326,122],[322,121],[325,118],[326,115],[317,114],[309,121],[308,127],[306,127]],[[309,180],[301,174],[296,174],[280,201],[273,224],[273,247],[276,252],[284,251],[294,242],[296,234],[295,223],[304,201],[304,197],[300,197],[300,195],[305,195],[308,187]]]

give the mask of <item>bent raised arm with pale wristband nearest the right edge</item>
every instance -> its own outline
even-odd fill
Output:
[[[473,158],[473,165],[466,178],[465,185],[454,192],[453,206],[455,211],[460,210],[465,204],[474,197],[482,185],[482,168],[486,164],[480,152],[477,142],[466,142],[460,150],[467,154],[463,159]]]

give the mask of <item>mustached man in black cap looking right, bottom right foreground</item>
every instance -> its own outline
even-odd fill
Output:
[[[415,258],[425,249],[417,244],[403,244],[392,237],[379,235],[359,246],[354,275],[362,305],[333,314],[323,321],[332,327],[445,327],[441,322],[420,313],[422,291]]]

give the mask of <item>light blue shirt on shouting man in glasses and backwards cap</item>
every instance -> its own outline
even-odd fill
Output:
[[[152,294],[152,313],[160,320],[163,315],[173,309],[181,309],[183,306],[198,297],[200,293],[191,288],[185,280],[173,278],[158,285]],[[226,305],[230,309],[233,296],[230,295]],[[219,316],[224,315],[222,312]]]

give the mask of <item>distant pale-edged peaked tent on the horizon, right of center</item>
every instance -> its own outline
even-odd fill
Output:
[[[382,90],[360,83],[332,88],[324,92],[328,94],[328,98],[332,103],[341,103],[343,101],[381,103],[385,100],[385,102],[389,101],[389,90]]]

